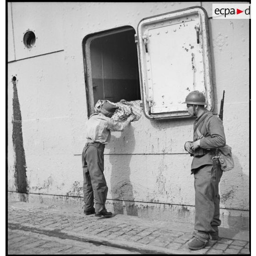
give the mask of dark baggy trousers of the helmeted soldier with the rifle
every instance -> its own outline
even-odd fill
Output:
[[[205,165],[194,171],[195,230],[215,232],[221,224],[218,185],[223,171],[219,164]]]

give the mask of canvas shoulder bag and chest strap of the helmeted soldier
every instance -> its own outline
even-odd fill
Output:
[[[206,120],[206,116],[203,117],[202,121],[205,122],[205,120]],[[197,133],[198,137],[200,139],[205,138],[200,133],[199,124],[195,128],[196,128],[196,133]],[[234,160],[232,157],[232,148],[230,146],[225,145],[224,147],[218,148],[217,149],[217,158],[219,159],[221,169],[223,170],[223,172],[229,171],[234,168]]]

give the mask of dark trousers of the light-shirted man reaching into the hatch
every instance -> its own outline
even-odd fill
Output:
[[[86,143],[82,153],[83,165],[83,201],[84,210],[95,211],[105,209],[108,187],[104,177],[104,145],[100,143]]]

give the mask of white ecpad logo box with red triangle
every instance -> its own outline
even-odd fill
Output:
[[[250,4],[212,4],[213,19],[250,19]]]

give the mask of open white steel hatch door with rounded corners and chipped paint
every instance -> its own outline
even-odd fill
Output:
[[[190,91],[206,96],[213,110],[208,18],[201,7],[148,17],[138,25],[141,94],[149,119],[189,117]]]

